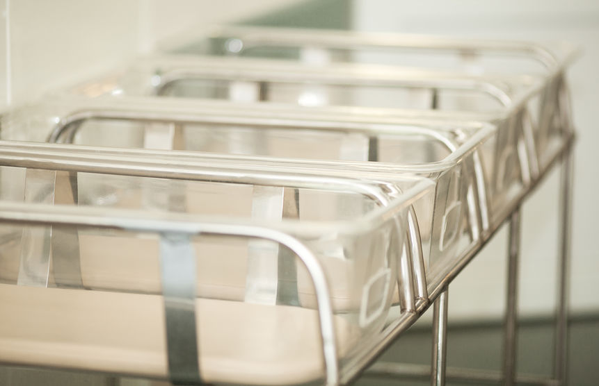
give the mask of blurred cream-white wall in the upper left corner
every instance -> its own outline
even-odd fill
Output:
[[[100,72],[187,28],[297,1],[0,0],[0,106]]]

